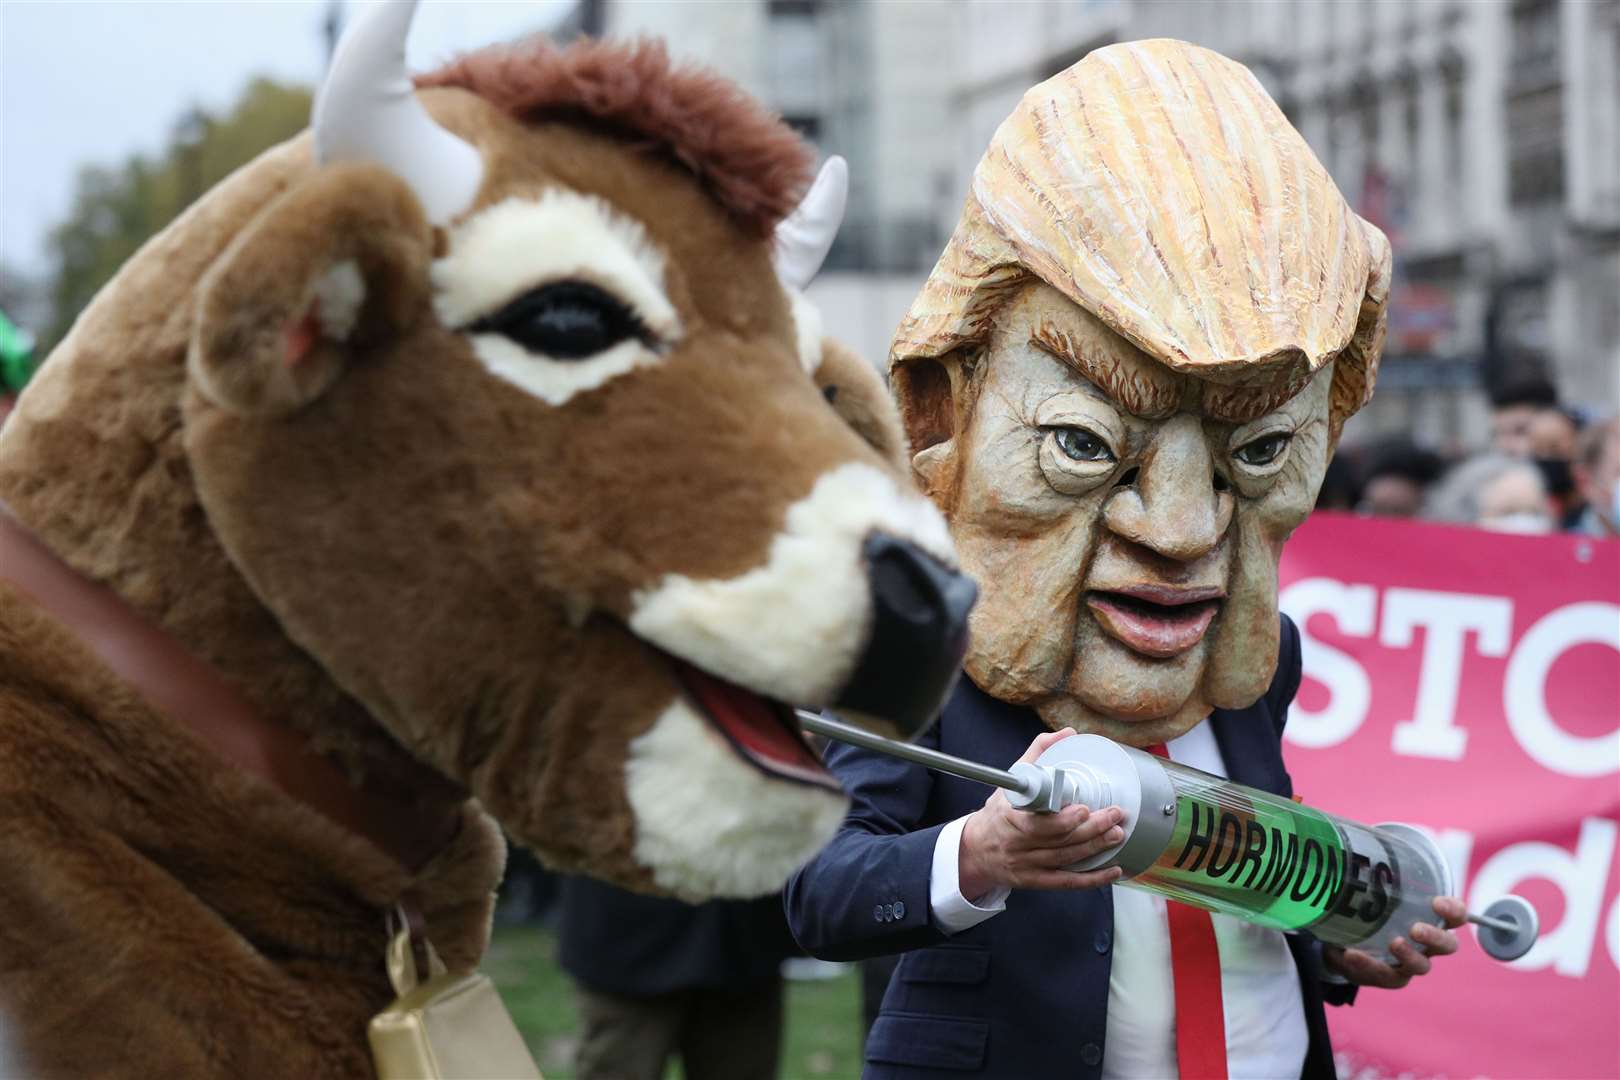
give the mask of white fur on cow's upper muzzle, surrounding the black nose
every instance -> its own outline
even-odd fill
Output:
[[[763,567],[726,580],[667,575],[630,597],[630,630],[750,690],[825,704],[865,646],[872,591],[862,546],[872,533],[912,541],[956,565],[932,502],[850,461],[787,508]]]

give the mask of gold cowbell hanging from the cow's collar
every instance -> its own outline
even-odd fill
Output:
[[[371,1018],[379,1080],[541,1080],[488,975],[450,975],[433,944],[421,978],[405,920],[389,939],[389,981],[399,999]]]

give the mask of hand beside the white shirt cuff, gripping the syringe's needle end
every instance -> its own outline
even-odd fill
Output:
[[[1035,737],[1019,761],[1034,761],[1047,746],[1072,735],[1072,729]],[[998,789],[962,826],[957,855],[957,887],[974,900],[991,889],[1097,889],[1119,879],[1118,866],[1071,873],[1069,863],[1124,840],[1118,806],[1090,810],[1064,806],[1055,814],[1014,810]]]

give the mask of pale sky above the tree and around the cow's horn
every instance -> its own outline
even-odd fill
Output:
[[[389,0],[369,0],[389,2]],[[352,19],[366,3],[347,0]],[[424,0],[407,60],[548,29],[570,0]],[[327,0],[0,0],[0,262],[49,269],[44,240],[81,165],[157,154],[191,105],[220,110],[258,74],[314,84]]]

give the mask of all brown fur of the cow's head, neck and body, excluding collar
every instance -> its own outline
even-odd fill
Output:
[[[481,204],[565,185],[643,222],[692,348],[567,410],[515,392],[434,321],[399,181],[316,172],[300,138],[84,313],[0,439],[0,499],[313,753],[400,798],[473,792],[551,861],[646,887],[622,761],[677,691],[629,594],[755,565],[818,474],[893,468],[897,421],[870,385],[850,398],[880,455],[799,368],[757,235],[786,165],[748,194],[721,154],[732,172],[705,175],[742,193],[723,207],[619,136],[423,97],[483,149]],[[355,338],[287,369],[309,277],[345,257],[368,283]],[[0,1030],[31,1075],[364,1075],[382,912],[411,897],[455,968],[484,947],[502,850],[478,803],[407,873],[3,589],[0,798]]]

